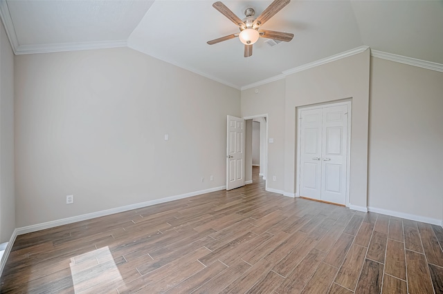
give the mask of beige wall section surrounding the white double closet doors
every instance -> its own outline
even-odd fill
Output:
[[[286,79],[284,106],[284,188],[296,192],[296,108],[341,99],[352,101],[351,206],[366,208],[368,179],[368,107],[370,50],[296,72]]]

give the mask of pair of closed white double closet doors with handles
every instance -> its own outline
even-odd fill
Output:
[[[300,112],[300,196],[346,204],[347,104]]]

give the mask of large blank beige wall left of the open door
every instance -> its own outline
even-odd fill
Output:
[[[239,90],[128,48],[19,55],[15,85],[17,227],[226,183]]]

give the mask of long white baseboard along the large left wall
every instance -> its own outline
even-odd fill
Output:
[[[210,189],[206,189],[206,190],[199,190],[199,191],[195,191],[195,192],[191,192],[191,193],[175,195],[175,196],[165,197],[165,198],[161,198],[161,199],[154,199],[151,201],[130,204],[127,206],[120,206],[120,207],[111,208],[111,209],[107,209],[107,210],[97,211],[96,213],[87,213],[85,215],[78,215],[75,217],[66,217],[65,219],[57,219],[55,221],[44,222],[42,224],[33,224],[32,226],[24,226],[21,228],[17,228],[16,229],[17,235],[40,231],[40,230],[44,230],[46,228],[54,228],[55,226],[62,226],[64,224],[72,224],[74,222],[81,222],[81,221],[84,221],[87,219],[93,219],[93,218],[102,217],[105,215],[113,215],[114,213],[123,213],[124,211],[127,211],[127,210],[142,208],[142,207],[146,207],[146,206],[152,206],[155,204],[161,204],[164,202],[170,202],[170,201],[174,201],[174,200],[178,200],[178,199],[183,199],[183,198],[187,198],[187,197],[211,193],[211,192],[224,190],[224,189],[226,189],[226,186],[210,188]]]

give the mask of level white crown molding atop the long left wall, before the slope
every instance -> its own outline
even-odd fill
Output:
[[[15,50],[16,55],[34,54],[34,53],[52,53],[89,49],[106,49],[127,47],[126,40],[117,41],[98,41],[98,42],[78,42],[78,43],[56,43],[42,45],[20,45]]]

